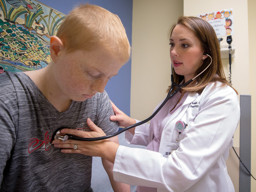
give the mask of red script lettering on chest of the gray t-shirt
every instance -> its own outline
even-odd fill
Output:
[[[48,151],[51,147],[51,145],[48,145],[52,140],[52,136],[49,134],[47,131],[44,134],[44,140],[39,140],[38,138],[32,138],[29,140],[29,145],[28,145],[28,153],[32,153],[35,150],[38,150],[42,147],[45,148],[45,151]]]

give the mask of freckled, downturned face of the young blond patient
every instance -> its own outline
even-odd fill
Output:
[[[62,51],[58,55],[54,77],[64,97],[75,101],[104,92],[108,80],[124,64],[100,46],[92,51]]]

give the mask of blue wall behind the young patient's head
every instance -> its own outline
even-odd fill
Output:
[[[40,2],[66,15],[80,2],[99,5],[119,16],[132,44],[132,0],[40,0]],[[108,81],[105,90],[115,105],[130,116],[131,60],[119,70],[117,76]]]

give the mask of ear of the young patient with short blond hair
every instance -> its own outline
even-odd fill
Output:
[[[63,42],[60,40],[59,37],[57,36],[51,36],[50,39],[50,53],[51,53],[51,58],[53,62],[56,63],[59,57],[59,52],[63,51],[64,45]]]

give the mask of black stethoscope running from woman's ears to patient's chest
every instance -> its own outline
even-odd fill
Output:
[[[175,84],[174,81],[173,81],[173,75],[172,75],[172,70],[171,70],[171,88],[170,88],[170,91],[168,92],[167,94],[167,97],[165,98],[165,100],[163,101],[163,103],[159,106],[159,108],[156,109],[156,111],[150,116],[148,117],[147,119],[141,121],[141,122],[138,122],[136,124],[132,124],[128,127],[125,127],[123,128],[122,130],[118,131],[118,132],[115,132],[111,135],[106,135],[106,136],[102,136],[102,137],[94,137],[94,138],[83,138],[83,137],[77,137],[77,136],[74,136],[74,135],[64,135],[64,136],[61,136],[59,135],[60,133],[60,130],[61,129],[65,129],[65,127],[60,127],[58,129],[55,130],[55,132],[52,134],[52,141],[54,139],[60,139],[60,140],[63,140],[63,141],[66,141],[68,139],[72,139],[72,140],[79,140],[79,141],[98,141],[98,140],[104,140],[104,139],[108,139],[108,138],[111,138],[111,137],[115,137],[116,135],[119,135],[120,133],[124,132],[124,131],[127,131],[128,129],[131,129],[133,127],[137,127],[139,125],[142,125],[146,122],[148,122],[149,120],[151,120],[159,111],[160,109],[164,106],[164,104],[169,100],[171,99],[177,92],[180,91],[180,89],[182,87],[185,87],[187,86],[188,84],[190,84],[196,77],[198,77],[199,75],[201,75],[211,64],[212,64],[212,57],[206,53],[203,53],[203,55],[206,55],[208,57],[210,57],[211,59],[211,62],[210,64],[201,72],[199,73],[197,76],[195,76],[193,79],[190,79],[188,82],[184,83],[184,84]],[[171,69],[172,69],[172,66],[171,66]],[[177,89],[172,92],[173,90],[173,87],[177,87]]]

